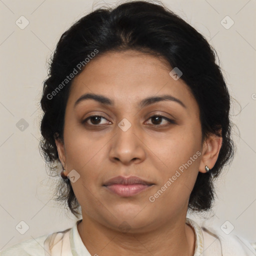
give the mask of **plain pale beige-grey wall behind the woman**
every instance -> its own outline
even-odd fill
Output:
[[[105,2],[111,5],[116,1]],[[189,217],[200,223],[203,217],[212,216],[206,224],[218,228],[228,220],[234,226],[231,233],[256,241],[256,0],[163,3],[210,41],[218,53],[230,93],[240,104],[234,101],[231,111],[240,131],[239,134],[236,129],[233,135],[237,152],[217,181],[214,208],[203,216]],[[38,102],[47,74],[46,61],[60,35],[102,4],[104,1],[99,0],[0,0],[0,250],[64,230],[76,221],[50,200],[54,180],[48,179],[38,150]],[[29,21],[24,29],[15,24],[21,15]],[[234,21],[229,29],[221,24],[226,15]],[[222,22],[230,24],[225,19]],[[28,123],[23,131],[16,127],[21,118]],[[21,220],[29,226],[24,234],[15,229]]]

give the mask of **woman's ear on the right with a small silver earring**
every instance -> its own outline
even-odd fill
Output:
[[[209,135],[203,141],[202,157],[199,165],[200,172],[206,172],[205,165],[207,165],[209,169],[214,166],[215,162],[217,161],[221,145],[222,137],[215,134]]]

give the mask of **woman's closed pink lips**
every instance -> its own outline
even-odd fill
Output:
[[[137,194],[151,185],[153,184],[136,176],[115,176],[103,184],[111,192],[124,197]]]

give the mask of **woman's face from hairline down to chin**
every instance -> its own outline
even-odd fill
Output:
[[[78,177],[71,185],[83,219],[116,230],[127,222],[136,231],[186,214],[207,149],[197,102],[171,70],[161,58],[128,50],[95,57],[73,79],[64,143],[56,144],[67,173]],[[80,98],[86,93],[109,100]],[[143,101],[162,95],[172,99]],[[104,185],[119,175],[150,185]]]

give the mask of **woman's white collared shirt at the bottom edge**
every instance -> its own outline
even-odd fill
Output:
[[[80,221],[81,219],[77,220],[73,227],[63,231],[17,243],[0,251],[0,256],[101,256],[100,253],[91,255],[83,244],[77,230]],[[250,243],[231,233],[221,235],[216,230],[198,226],[189,218],[186,218],[186,223],[195,233],[194,256],[256,255],[256,243]]]

